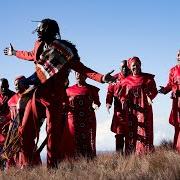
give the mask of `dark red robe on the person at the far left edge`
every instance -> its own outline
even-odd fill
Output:
[[[4,126],[8,126],[11,120],[10,110],[8,107],[8,100],[13,96],[14,92],[11,90],[8,90],[7,95],[3,96],[0,94],[0,147],[2,148],[4,141],[5,141],[5,135],[2,134],[2,130]]]

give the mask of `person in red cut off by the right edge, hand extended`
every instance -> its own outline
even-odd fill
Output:
[[[159,93],[167,94],[172,91],[172,109],[169,123],[175,129],[174,149],[180,152],[180,50],[177,53],[177,65],[170,69],[167,85],[160,87]]]

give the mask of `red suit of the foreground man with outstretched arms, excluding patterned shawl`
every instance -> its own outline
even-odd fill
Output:
[[[16,56],[25,60],[34,60],[35,62],[40,58],[43,52],[43,42],[36,41],[34,49],[31,52],[17,51]],[[58,48],[58,47],[57,47]],[[72,47],[70,47],[73,49]],[[74,47],[74,52],[76,49]],[[77,58],[77,59],[75,59]],[[57,161],[59,157],[58,147],[60,146],[62,129],[63,129],[63,102],[66,97],[66,91],[64,84],[68,77],[69,68],[86,75],[87,77],[101,82],[101,74],[87,68],[78,59],[78,55],[75,56],[70,62],[65,64],[61,71],[48,79],[46,83],[39,86],[34,94],[35,99],[39,101],[46,108],[47,116],[47,165],[48,167],[57,166]],[[39,108],[39,109],[38,109]],[[30,139],[35,138],[38,135],[38,116],[42,108],[37,106],[37,103],[32,101],[29,102],[25,110],[25,115],[23,118],[23,124],[20,128],[22,137],[24,138],[24,143],[31,141]],[[36,113],[36,111],[38,113]],[[27,125],[28,122],[34,119],[34,124]],[[31,127],[32,126],[32,127]],[[34,127],[35,126],[35,127]],[[25,130],[26,129],[26,130]],[[32,129],[36,129],[32,134]],[[25,147],[26,146],[26,147]],[[30,144],[24,146],[24,154],[31,156],[30,150],[33,148]]]

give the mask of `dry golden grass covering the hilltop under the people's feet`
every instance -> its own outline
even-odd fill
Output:
[[[156,152],[123,157],[117,154],[99,154],[93,161],[79,159],[64,161],[57,170],[47,170],[44,166],[34,169],[10,169],[2,173],[3,180],[98,180],[98,179],[180,179],[180,154],[172,150],[158,149]]]

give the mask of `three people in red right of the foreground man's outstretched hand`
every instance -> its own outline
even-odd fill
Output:
[[[165,87],[157,90],[154,75],[141,70],[138,57],[123,60],[117,80],[108,87],[106,107],[114,101],[114,114],[111,131],[114,132],[116,151],[121,154],[144,154],[154,151],[152,101],[158,93],[172,91],[172,110],[169,123],[174,126],[173,148],[180,152],[180,51],[177,53],[177,65],[169,73]],[[125,146],[125,148],[124,148]]]

